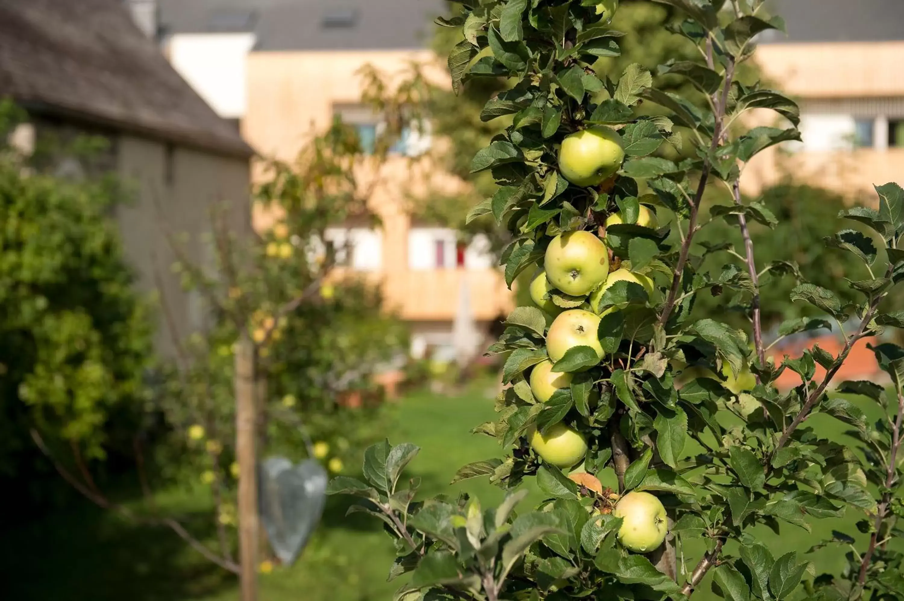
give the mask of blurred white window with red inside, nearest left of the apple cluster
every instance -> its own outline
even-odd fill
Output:
[[[493,267],[490,241],[478,234],[470,244],[458,241],[449,228],[411,228],[408,233],[411,269],[485,269]]]

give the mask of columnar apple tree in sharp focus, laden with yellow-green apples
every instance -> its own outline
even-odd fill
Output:
[[[756,35],[783,23],[762,0],[657,1],[681,14],[668,29],[696,58],[655,73],[594,66],[630,39],[611,24],[617,0],[475,0],[439,21],[463,35],[448,59],[454,90],[511,80],[484,108],[511,123],[471,164],[499,187],[470,218],[510,232],[505,278],[537,270],[537,306],[515,309],[488,351],[509,353],[510,386],[476,432],[504,457],[456,475],[488,478],[504,502],[416,500],[418,481],[401,472],[418,448],[388,441],[365,453],[366,482],[331,483],[395,538],[390,578],[410,572],[400,599],[685,599],[706,585],[744,601],[901,598],[904,349],[873,348],[888,390],[834,376],[854,343],[904,326],[883,310],[904,277],[904,191],[878,187],[878,209],[844,211],[855,227],[826,240],[827,257],[850,253],[867,277],[833,291],[786,258],[758,260],[749,226],[777,218],[742,197],[741,177],[765,148],[799,139],[799,111],[743,74]],[[664,76],[686,80],[705,108],[664,91]],[[662,114],[641,112],[651,104]],[[745,127],[752,109],[771,110],[777,127]],[[665,158],[667,146],[687,158]],[[702,211],[708,188],[732,202]],[[715,223],[739,231],[738,248],[698,238]],[[841,352],[767,358],[760,290],[773,281],[818,312],[779,335],[834,330]],[[699,315],[704,296],[725,300]],[[726,321],[729,303],[743,327]],[[784,371],[795,388],[777,389]],[[516,512],[523,484],[543,498]],[[843,515],[861,519],[811,533]]]

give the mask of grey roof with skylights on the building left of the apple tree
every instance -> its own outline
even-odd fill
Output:
[[[159,0],[165,33],[254,32],[256,50],[382,50],[429,45],[444,0]]]

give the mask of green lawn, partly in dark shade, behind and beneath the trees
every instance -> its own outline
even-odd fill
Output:
[[[424,495],[476,494],[487,505],[502,498],[499,489],[481,480],[448,486],[457,468],[471,461],[498,456],[495,441],[468,434],[470,428],[494,415],[490,383],[476,384],[453,398],[419,393],[391,407],[392,443],[412,442],[421,447],[408,475],[422,479]],[[874,412],[873,412],[874,413]],[[872,416],[875,417],[874,415]],[[835,440],[843,427],[824,416],[807,425]],[[608,474],[611,477],[611,474]],[[604,483],[609,478],[604,478]],[[532,493],[528,505],[540,498]],[[158,503],[184,516],[205,537],[212,531],[209,500],[200,491],[172,490],[158,495]],[[391,540],[381,522],[370,516],[344,517],[351,500],[330,498],[321,527],[297,564],[277,568],[260,578],[261,601],[377,601],[390,599],[397,587],[386,582],[394,557]],[[832,530],[856,534],[858,547],[865,536],[856,532],[850,514],[843,519],[816,521],[814,535],[828,537]],[[792,526],[780,533],[756,532],[777,555],[809,549],[814,536]],[[732,548],[729,547],[729,551]],[[693,567],[702,541],[688,544],[686,562]],[[815,556],[821,568],[838,571],[843,553],[824,549]],[[23,524],[2,535],[0,544],[2,597],[16,601],[236,601],[235,579],[202,559],[171,531],[123,521],[89,503]],[[704,582],[695,599],[715,599]]]

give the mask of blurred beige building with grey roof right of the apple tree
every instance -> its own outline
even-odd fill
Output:
[[[873,183],[904,183],[904,2],[772,0],[787,35],[760,36],[764,77],[796,99],[802,143],[750,165],[755,192],[786,174],[874,202]]]

